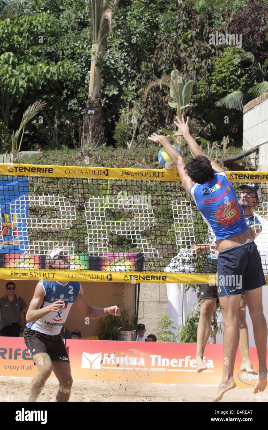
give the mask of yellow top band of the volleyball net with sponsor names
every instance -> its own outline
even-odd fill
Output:
[[[267,182],[268,172],[226,172],[230,182]],[[117,169],[78,166],[42,166],[34,164],[2,164],[0,175],[43,176],[58,178],[135,179],[147,181],[180,181],[177,170]]]

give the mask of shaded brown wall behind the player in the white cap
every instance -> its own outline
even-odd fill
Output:
[[[0,279],[0,297],[6,294],[5,279]],[[34,289],[37,285],[36,281],[15,280],[16,294],[24,298],[27,307],[34,295]],[[111,305],[111,296],[114,294],[115,284],[99,283],[99,282],[83,282],[84,296],[91,306],[107,307]],[[125,307],[129,307],[134,313],[134,285],[127,283],[125,285]],[[116,303],[113,303],[116,304]],[[94,336],[97,329],[99,319],[91,319],[89,325],[85,325],[85,318],[81,311],[74,303],[65,322],[65,327],[71,332],[80,330],[82,337]]]

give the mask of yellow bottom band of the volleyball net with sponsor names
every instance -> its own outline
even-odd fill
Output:
[[[166,272],[106,272],[104,270],[51,270],[1,268],[1,279],[27,279],[44,281],[80,282],[125,282],[125,283],[175,283],[216,284],[216,276],[209,273],[166,273]],[[265,276],[268,281],[268,275]]]

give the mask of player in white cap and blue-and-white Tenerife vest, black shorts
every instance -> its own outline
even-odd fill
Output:
[[[46,256],[46,268],[68,270],[70,263],[64,253],[64,248],[50,251]],[[69,400],[73,380],[60,332],[74,302],[85,317],[120,316],[117,306],[90,306],[80,282],[40,281],[26,314],[28,324],[24,330],[25,344],[38,370],[31,381],[28,402],[36,401],[52,370],[59,381],[56,402]]]

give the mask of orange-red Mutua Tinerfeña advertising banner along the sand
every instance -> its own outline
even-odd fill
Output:
[[[206,345],[202,373],[196,369],[196,344],[67,340],[73,379],[132,381],[158,384],[218,385],[222,378],[223,345]],[[256,348],[250,348],[258,369]],[[239,350],[234,365],[237,387],[253,387],[258,375],[240,370]],[[0,337],[0,376],[33,377],[37,373],[23,338]],[[52,372],[52,378],[55,375]]]

